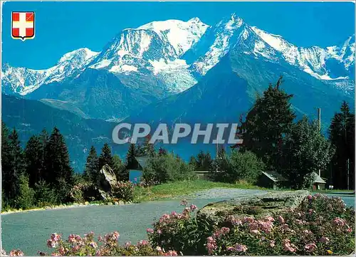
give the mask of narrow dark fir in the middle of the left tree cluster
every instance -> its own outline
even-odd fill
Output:
[[[24,150],[24,159],[26,163],[26,174],[28,176],[28,184],[30,187],[41,180],[42,164],[43,164],[43,146],[41,145],[40,137],[33,135],[27,142]]]

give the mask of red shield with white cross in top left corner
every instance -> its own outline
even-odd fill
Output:
[[[15,39],[32,39],[35,37],[35,12],[13,11],[11,19],[11,36]]]

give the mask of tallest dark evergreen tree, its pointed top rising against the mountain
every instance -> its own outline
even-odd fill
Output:
[[[256,100],[241,124],[244,140],[242,150],[254,152],[266,164],[267,169],[278,167],[283,137],[290,132],[295,114],[288,95],[281,90],[282,77],[276,85],[269,85],[263,96]]]

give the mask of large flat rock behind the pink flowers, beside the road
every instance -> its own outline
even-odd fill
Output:
[[[241,197],[207,204],[199,210],[199,215],[226,216],[250,215],[266,216],[298,206],[309,192],[306,190],[266,192],[259,196]]]

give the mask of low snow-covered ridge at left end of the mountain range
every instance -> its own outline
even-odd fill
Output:
[[[75,72],[83,70],[97,55],[98,53],[88,48],[80,48],[66,53],[56,65],[45,70],[14,68],[6,63],[1,72],[1,90],[3,93],[27,95],[41,85],[61,82]]]

